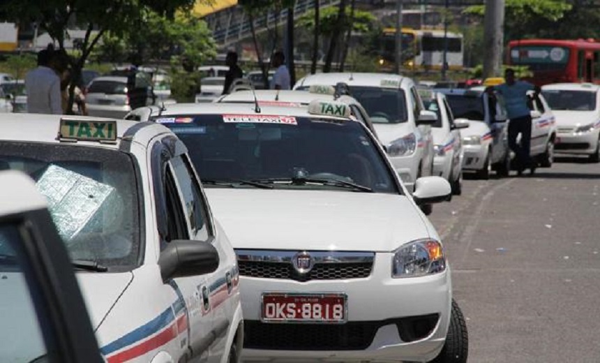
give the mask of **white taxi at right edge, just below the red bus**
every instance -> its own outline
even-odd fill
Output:
[[[600,161],[600,87],[589,83],[547,84],[541,94],[556,117],[555,149]]]

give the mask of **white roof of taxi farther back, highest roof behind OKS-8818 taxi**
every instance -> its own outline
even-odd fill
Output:
[[[389,73],[317,73],[315,75],[307,75],[294,87],[304,87],[313,84],[331,86],[338,82],[344,82],[349,86],[381,87],[384,80],[398,82],[398,84],[403,84],[403,82],[414,83],[409,77]]]

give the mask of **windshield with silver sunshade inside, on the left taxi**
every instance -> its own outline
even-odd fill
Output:
[[[0,143],[0,170],[20,170],[45,195],[73,260],[135,267],[140,255],[135,169],[120,151]]]

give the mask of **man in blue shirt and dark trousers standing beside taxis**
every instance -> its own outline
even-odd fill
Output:
[[[488,87],[486,91],[491,96],[493,96],[493,91],[497,91],[504,97],[509,118],[509,147],[516,156],[518,175],[522,175],[523,170],[527,168],[533,174],[537,164],[530,157],[532,119],[529,108],[530,98],[527,96],[527,92],[534,91],[534,98],[537,98],[541,89],[530,82],[515,80],[515,71],[511,68],[504,71],[504,79],[503,84]],[[519,134],[521,135],[520,145],[517,144]]]

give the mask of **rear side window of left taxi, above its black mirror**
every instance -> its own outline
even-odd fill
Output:
[[[206,241],[209,239],[206,206],[192,167],[181,156],[172,158],[171,165],[181,191],[183,210],[190,230],[197,239]]]

